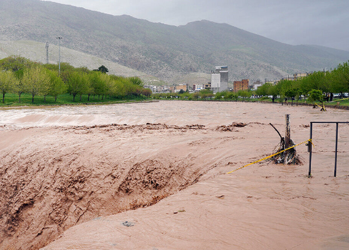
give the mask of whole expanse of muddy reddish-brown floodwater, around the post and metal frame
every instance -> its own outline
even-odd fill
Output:
[[[349,249],[346,110],[159,101],[0,109],[0,249]],[[236,124],[243,126],[236,126]]]

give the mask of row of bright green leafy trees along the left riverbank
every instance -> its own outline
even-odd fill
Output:
[[[132,99],[133,97],[149,97],[151,90],[143,88],[138,77],[120,77],[107,75],[105,66],[97,70],[88,70],[86,67],[75,68],[68,63],[58,65],[40,64],[23,57],[7,57],[0,60],[0,91],[2,102],[6,93],[18,94],[21,102],[22,93],[30,93],[32,102],[36,95],[52,96],[57,101],[59,94],[70,93],[73,101],[78,95],[97,95],[98,98],[116,97]]]

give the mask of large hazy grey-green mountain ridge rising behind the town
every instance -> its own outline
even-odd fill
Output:
[[[58,44],[57,36],[63,37],[63,47],[169,83],[179,83],[187,74],[206,73],[206,79],[216,65],[228,65],[230,81],[263,80],[330,69],[349,59],[348,51],[288,45],[207,20],[177,27],[48,1],[0,1],[0,40]]]

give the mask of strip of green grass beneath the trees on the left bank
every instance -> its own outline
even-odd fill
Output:
[[[0,107],[13,107],[13,106],[53,106],[53,105],[79,105],[79,104],[110,104],[110,103],[120,103],[120,102],[129,102],[129,101],[143,101],[147,100],[143,97],[133,97],[133,98],[103,98],[98,95],[93,98],[93,95],[90,96],[88,101],[88,95],[82,95],[80,101],[80,95],[75,96],[75,101],[73,102],[73,95],[70,94],[61,94],[57,97],[57,102],[54,101],[54,97],[46,96],[46,102],[44,102],[43,96],[35,96],[34,103],[32,103],[32,96],[30,94],[22,94],[21,102],[19,102],[17,94],[6,94],[5,103],[2,103],[2,96],[0,99]]]

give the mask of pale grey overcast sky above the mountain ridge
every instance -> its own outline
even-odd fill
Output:
[[[176,26],[206,19],[292,45],[349,51],[349,0],[51,1]]]

